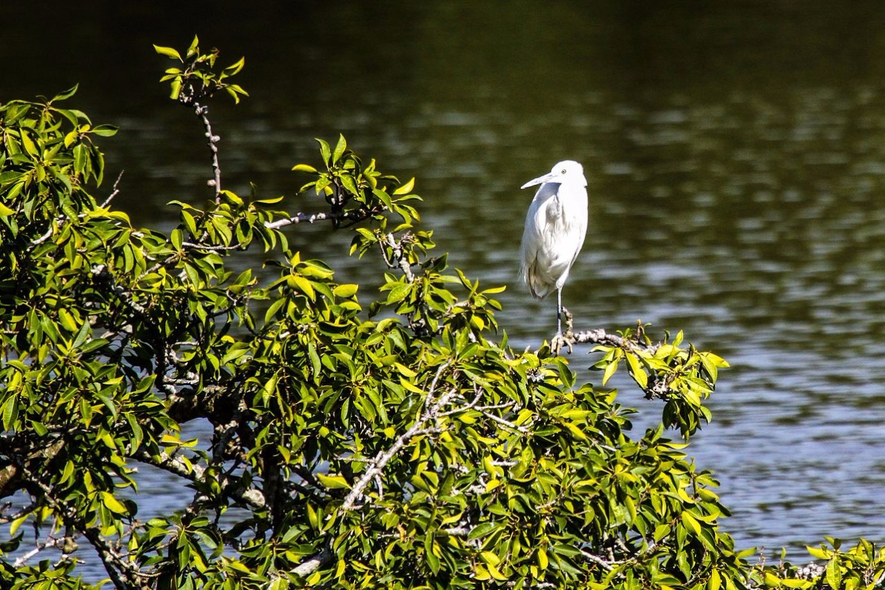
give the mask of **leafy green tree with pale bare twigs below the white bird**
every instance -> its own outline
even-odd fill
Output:
[[[325,212],[222,188],[206,103],[246,95],[230,81],[243,60],[216,67],[196,38],[183,57],[156,49],[212,156],[211,197],[173,202],[168,233],[113,209],[119,178],[97,196],[96,138],[115,130],[62,106],[76,88],[0,105],[4,586],[89,587],[78,545],[119,588],[823,583],[750,567],[752,550],[720,530],[716,481],[683,452],[710,419],[719,356],[681,333],[653,341],[643,325],[570,328],[596,343],[603,386],[625,367],[663,403],[661,425],[631,438],[634,410],[616,391],[576,384],[546,344],[497,339],[503,287],[430,255],[414,180],[339,137],[319,141],[318,167],[293,168]],[[381,295],[304,260],[301,223],[352,232],[350,254],[376,264]],[[230,270],[250,249],[272,276]],[[210,441],[182,440],[195,420],[212,425]],[[192,500],[140,518],[140,464]],[[812,578],[881,579],[871,544],[833,544]]]

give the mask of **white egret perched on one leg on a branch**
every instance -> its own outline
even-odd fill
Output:
[[[573,160],[520,188],[541,185],[528,206],[522,233],[519,274],[535,299],[557,292],[557,339],[562,337],[562,287],[587,234],[587,179]]]

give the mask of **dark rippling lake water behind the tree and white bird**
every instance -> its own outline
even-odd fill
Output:
[[[345,134],[417,177],[452,264],[508,285],[499,320],[517,347],[555,322],[516,280],[532,197],[519,186],[577,159],[590,223],[564,295],[576,328],[642,318],[733,366],[689,448],[722,483],[724,529],[799,561],[823,535],[885,541],[885,4],[81,4],[76,26],[73,9],[23,9],[47,34],[0,39],[0,101],[80,82],[73,104],[121,127],[107,176],[126,170],[118,203],[136,223],[165,226],[164,203],[209,194],[202,128],[165,99],[150,48],[194,33],[222,61],[246,56],[250,98],[212,107],[226,188],[317,211],[289,169],[316,164],[313,137]],[[291,238],[342,280],[373,277],[349,241],[325,226]],[[587,352],[573,367],[597,381]],[[637,429],[658,418],[620,384]],[[189,497],[144,479],[156,510]]]

